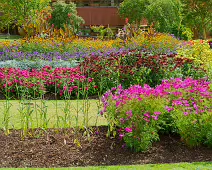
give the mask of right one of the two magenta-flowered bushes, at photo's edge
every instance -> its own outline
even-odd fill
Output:
[[[163,81],[169,103],[166,106],[182,141],[189,146],[212,146],[212,84],[204,80],[180,78]]]

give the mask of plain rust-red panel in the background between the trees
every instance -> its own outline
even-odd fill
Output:
[[[84,26],[123,26],[125,20],[118,14],[116,7],[78,7],[78,15],[85,20]]]

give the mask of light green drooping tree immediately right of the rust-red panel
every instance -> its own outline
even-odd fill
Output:
[[[129,18],[130,23],[139,24],[146,18],[149,25],[157,31],[171,32],[173,26],[179,27],[182,21],[180,0],[124,0],[119,13]]]

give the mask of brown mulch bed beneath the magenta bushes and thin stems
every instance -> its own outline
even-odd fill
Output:
[[[106,137],[107,127],[93,128],[90,138],[72,129],[37,129],[35,137],[21,139],[20,131],[0,132],[0,167],[73,167],[177,162],[211,162],[212,149],[188,148],[179,136],[161,135],[146,153],[123,147],[117,138]],[[78,139],[78,142],[74,139]]]

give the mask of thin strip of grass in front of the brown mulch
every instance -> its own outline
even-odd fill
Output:
[[[2,170],[23,170],[23,168],[2,168]],[[70,167],[70,168],[26,168],[27,170],[212,170],[212,162],[177,163],[177,164],[147,164],[127,166],[97,166],[97,167]]]

